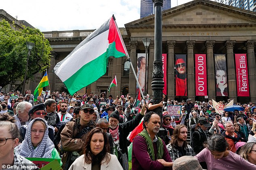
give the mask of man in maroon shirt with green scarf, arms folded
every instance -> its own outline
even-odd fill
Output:
[[[157,137],[161,119],[155,112],[145,114],[143,120],[144,130],[139,133],[132,144],[132,170],[165,170],[161,162],[172,162],[164,141]],[[159,160],[159,161],[157,161]]]

